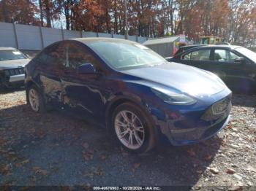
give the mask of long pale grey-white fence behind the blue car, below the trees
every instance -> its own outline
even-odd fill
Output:
[[[16,47],[20,50],[42,50],[42,48],[64,39],[80,37],[109,37],[124,39],[124,35],[84,31],[69,31],[40,26],[27,26],[0,22],[0,47]],[[146,37],[128,36],[129,40],[143,43]]]

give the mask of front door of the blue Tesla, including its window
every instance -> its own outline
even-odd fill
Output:
[[[64,109],[82,117],[101,117],[106,102],[104,71],[97,58],[80,42],[68,42],[66,47],[67,61],[61,77]],[[96,72],[81,74],[79,66],[86,63],[92,64]]]

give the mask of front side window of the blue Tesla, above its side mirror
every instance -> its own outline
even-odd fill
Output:
[[[85,47],[78,43],[69,43],[67,46],[67,62],[65,67],[69,69],[78,69],[78,67],[85,63],[91,63],[94,68],[98,68],[97,60]]]

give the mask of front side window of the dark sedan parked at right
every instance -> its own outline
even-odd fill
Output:
[[[233,63],[239,56],[230,50],[214,50],[214,61]]]

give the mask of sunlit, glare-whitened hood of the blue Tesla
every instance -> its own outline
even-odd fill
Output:
[[[225,84],[216,75],[180,63],[165,63],[158,66],[121,71],[134,77],[179,90],[189,95],[213,95],[225,89]]]

